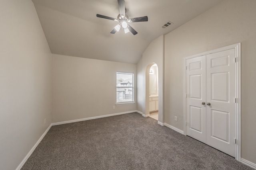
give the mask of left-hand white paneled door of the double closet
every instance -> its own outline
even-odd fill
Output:
[[[186,61],[186,131],[206,143],[206,57]]]

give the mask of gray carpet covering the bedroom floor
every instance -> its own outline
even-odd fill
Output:
[[[53,169],[252,170],[139,113],[52,126],[22,170]]]

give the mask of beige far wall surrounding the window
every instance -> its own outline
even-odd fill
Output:
[[[137,109],[136,103],[116,106],[116,72],[133,72],[136,87],[136,64],[54,54],[52,57],[53,123]]]

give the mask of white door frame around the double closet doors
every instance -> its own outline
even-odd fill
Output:
[[[192,59],[195,57],[200,57],[202,55],[209,55],[211,53],[217,53],[220,51],[225,51],[229,49],[235,49],[235,76],[236,76],[236,111],[235,111],[235,133],[236,133],[236,150],[235,150],[235,158],[239,162],[241,162],[241,43],[236,43],[233,45],[228,45],[226,47],[221,47],[218,49],[206,51],[203,53],[199,53],[196,55],[191,55],[188,57],[184,57],[183,61],[183,129],[184,135],[186,133],[186,60]],[[206,56],[207,57],[207,56]],[[235,142],[235,141],[234,141]]]

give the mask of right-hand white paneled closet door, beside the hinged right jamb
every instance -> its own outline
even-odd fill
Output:
[[[235,49],[206,56],[206,144],[231,156],[235,156],[234,58]]]

